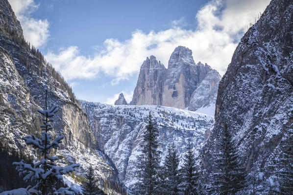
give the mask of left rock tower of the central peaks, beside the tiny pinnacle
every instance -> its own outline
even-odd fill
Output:
[[[130,105],[161,105],[167,69],[156,57],[147,57],[141,66]]]

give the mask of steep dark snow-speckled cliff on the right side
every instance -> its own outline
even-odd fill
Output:
[[[265,177],[280,141],[293,133],[288,128],[293,123],[292,36],[293,1],[272,0],[241,39],[220,81],[216,124],[205,147],[217,150],[213,140],[227,125],[246,170],[256,166]]]

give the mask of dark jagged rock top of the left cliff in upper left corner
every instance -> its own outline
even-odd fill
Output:
[[[24,37],[22,26],[16,19],[8,0],[0,0],[0,28],[8,28],[20,37]]]

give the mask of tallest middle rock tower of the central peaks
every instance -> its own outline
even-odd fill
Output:
[[[210,70],[208,65],[195,65],[190,49],[176,47],[168,63],[162,105],[183,109],[188,107],[192,93]]]

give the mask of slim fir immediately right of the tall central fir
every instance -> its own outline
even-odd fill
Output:
[[[164,162],[163,170],[163,188],[166,195],[178,195],[179,184],[179,157],[177,155],[174,143],[168,145],[167,156]]]

